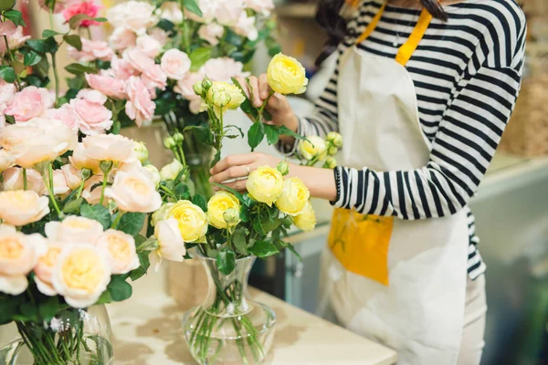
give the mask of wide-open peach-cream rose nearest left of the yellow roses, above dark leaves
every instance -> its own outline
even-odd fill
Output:
[[[156,186],[143,172],[118,172],[111,187],[105,189],[124,212],[153,213],[162,206]]]

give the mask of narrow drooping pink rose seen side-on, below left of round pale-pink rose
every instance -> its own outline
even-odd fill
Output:
[[[153,120],[156,105],[141,78],[132,77],[128,80],[127,93],[129,100],[126,103],[125,111],[128,117],[135,120],[139,127],[143,122]]]

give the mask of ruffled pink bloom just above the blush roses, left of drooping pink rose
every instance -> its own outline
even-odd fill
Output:
[[[83,89],[76,99],[70,100],[70,106],[79,115],[82,122],[80,130],[84,134],[100,134],[112,127],[112,112],[103,106],[107,97],[97,90]]]

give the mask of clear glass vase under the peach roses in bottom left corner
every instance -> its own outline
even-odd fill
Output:
[[[0,365],[112,365],[111,337],[104,306],[66,308],[47,322],[0,327]]]

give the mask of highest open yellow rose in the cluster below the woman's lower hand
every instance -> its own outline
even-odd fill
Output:
[[[269,166],[258,167],[249,174],[246,188],[253,199],[271,206],[283,190],[283,176]]]

